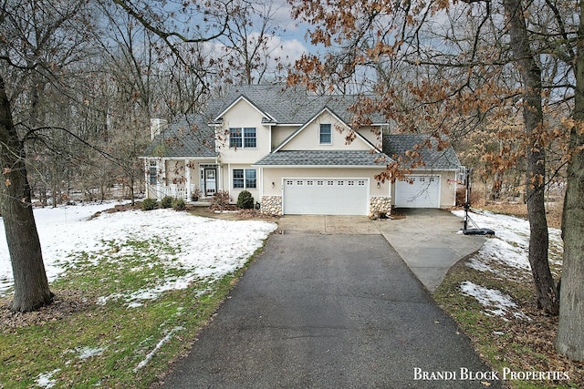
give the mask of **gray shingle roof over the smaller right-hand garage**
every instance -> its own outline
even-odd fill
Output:
[[[456,157],[454,148],[437,148],[437,140],[428,135],[420,134],[390,134],[383,136],[383,152],[390,158],[401,157],[407,150],[413,150],[416,145],[421,145],[430,139],[433,148],[422,147],[418,149],[422,156],[425,169],[459,169],[460,160]]]

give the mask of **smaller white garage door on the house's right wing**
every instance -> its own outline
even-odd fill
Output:
[[[398,208],[440,208],[440,176],[409,176],[395,183]]]

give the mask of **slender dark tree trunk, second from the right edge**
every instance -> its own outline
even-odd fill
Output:
[[[525,87],[523,118],[527,139],[527,217],[529,219],[529,263],[537,306],[557,315],[558,295],[547,260],[548,232],[545,206],[546,152],[540,140],[543,129],[541,69],[531,50],[521,0],[504,0],[511,48]]]

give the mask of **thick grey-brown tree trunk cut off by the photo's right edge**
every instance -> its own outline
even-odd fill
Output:
[[[579,46],[576,58],[574,119],[569,149],[568,187],[564,199],[562,236],[564,261],[559,295],[556,350],[575,361],[584,361],[584,5],[580,3]]]

